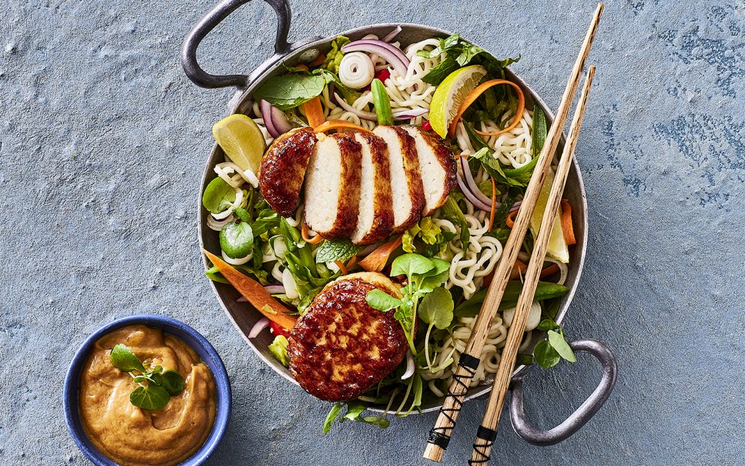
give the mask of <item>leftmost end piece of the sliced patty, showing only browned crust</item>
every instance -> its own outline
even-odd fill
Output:
[[[291,217],[297,209],[305,169],[316,142],[311,128],[291,130],[274,139],[261,160],[261,195],[283,217]]]

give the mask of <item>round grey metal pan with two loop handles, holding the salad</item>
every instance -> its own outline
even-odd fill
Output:
[[[197,25],[191,29],[186,40],[184,41],[181,61],[184,72],[194,84],[206,88],[220,88],[233,86],[237,89],[235,96],[229,101],[229,113],[247,113],[250,106],[251,95],[254,89],[261,85],[267,78],[282,73],[284,66],[294,66],[299,62],[301,56],[317,54],[317,52],[326,52],[329,50],[332,40],[338,35],[349,37],[352,40],[359,39],[367,34],[377,34],[382,37],[389,33],[396,26],[401,26],[402,31],[396,37],[402,45],[408,45],[413,42],[419,42],[429,37],[447,37],[450,33],[442,29],[432,28],[426,25],[416,25],[408,23],[387,23],[364,26],[362,28],[342,31],[338,34],[332,34],[329,37],[310,37],[298,42],[288,42],[288,31],[290,28],[290,5],[286,0],[264,0],[276,11],[277,14],[277,31],[274,42],[274,54],[268,60],[253,70],[249,75],[210,75],[205,72],[197,63],[197,47],[200,42],[209,34],[212,29],[220,24],[223,19],[230,13],[247,3],[249,0],[223,0],[218,3],[212,10],[206,13]],[[548,121],[553,122],[554,115],[546,104],[541,100],[539,95],[530,89],[527,84],[510,70],[507,70],[507,78],[522,87],[527,101],[527,107],[531,108],[533,104],[538,104],[548,116]],[[559,145],[559,151],[562,149],[562,143]],[[202,190],[207,184],[215,178],[216,174],[213,169],[215,165],[224,161],[224,154],[218,145],[212,148],[209,154],[204,174],[202,177]],[[587,248],[587,200],[585,197],[585,188],[580,174],[580,167],[576,160],[573,163],[569,177],[566,183],[564,197],[568,198],[574,209],[572,210],[572,221],[575,225],[575,236],[577,245],[570,251],[569,274],[566,286],[569,292],[562,298],[562,303],[557,313],[557,322],[561,323],[564,319],[569,303],[571,303],[574,292],[577,290],[577,284],[582,274],[583,262]],[[209,251],[220,251],[218,235],[209,229],[206,225],[208,212],[201,205],[197,208],[200,212],[199,237],[200,245]],[[206,262],[205,262],[206,265]],[[253,309],[249,303],[238,303],[235,300],[239,297],[238,292],[232,286],[222,283],[210,282],[212,289],[215,291],[218,300],[225,309],[229,319],[244,337],[246,342],[253,348],[261,359],[269,365],[277,374],[285,377],[290,382],[295,382],[289,371],[279,364],[267,350],[270,344],[270,336],[267,333],[261,333],[256,339],[248,339],[247,335],[256,321],[261,318],[261,314]],[[534,341],[538,341],[539,336]],[[595,340],[577,340],[571,342],[575,351],[586,351],[595,356],[603,365],[603,377],[600,384],[590,397],[574,412],[566,421],[554,429],[545,431],[537,429],[530,424],[522,409],[522,378],[527,373],[527,366],[521,365],[515,369],[513,374],[513,398],[510,406],[510,418],[516,432],[524,438],[525,441],[536,445],[556,444],[559,441],[568,438],[574,432],[577,432],[583,424],[592,418],[592,415],[600,409],[600,406],[608,399],[616,377],[616,363],[613,353],[602,343]],[[482,397],[491,390],[491,384],[479,385],[471,388],[466,400],[472,400],[476,397]],[[431,412],[440,408],[437,400],[425,403],[422,406],[422,412]],[[378,410],[373,407],[373,410]]]

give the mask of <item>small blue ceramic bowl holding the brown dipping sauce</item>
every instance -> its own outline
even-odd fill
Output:
[[[80,350],[77,350],[75,358],[72,359],[72,364],[67,371],[65,388],[63,390],[63,408],[65,409],[65,417],[67,418],[67,427],[70,429],[75,444],[77,444],[77,447],[80,448],[93,464],[98,466],[116,465],[115,462],[112,462],[107,456],[104,456],[103,453],[98,451],[83,430],[83,424],[80,422],[80,412],[77,409],[77,391],[80,384],[80,371],[82,371],[83,365],[88,359],[91,347],[95,341],[107,333],[121,327],[127,327],[127,325],[147,325],[148,327],[162,329],[165,333],[170,333],[182,339],[186,344],[194,348],[194,351],[197,352],[199,357],[209,367],[209,370],[212,371],[212,375],[215,377],[215,384],[217,385],[218,397],[215,424],[212,425],[212,432],[209,433],[202,447],[191,458],[182,463],[182,465],[188,466],[201,465],[218,447],[220,439],[227,429],[228,421],[230,420],[231,404],[230,380],[222,359],[220,359],[218,352],[215,351],[212,344],[209,344],[207,339],[197,332],[197,330],[194,330],[183,322],[164,315],[145,314],[120,318],[101,327],[101,329],[86,339]]]

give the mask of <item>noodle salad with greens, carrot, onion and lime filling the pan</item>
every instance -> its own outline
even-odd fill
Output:
[[[547,132],[541,108],[527,108],[522,89],[505,78],[504,67],[517,59],[497,60],[458,34],[402,46],[396,41],[399,31],[354,42],[337,37],[326,54],[307,57],[264,82],[254,92],[247,115],[230,116],[214,130],[226,159],[215,166],[217,177],[203,192],[203,204],[210,212],[207,224],[220,236],[221,259],[261,285],[261,293],[244,293],[267,316],[250,338],[268,327],[274,336],[271,353],[289,367],[294,320],[282,324],[285,321],[273,315],[302,319],[331,283],[359,271],[382,272],[401,291],[375,289],[367,292],[367,303],[395,313],[406,337],[405,359],[363,394],[337,400],[324,432],[337,418],[385,427],[388,413],[408,415],[425,400],[447,393]],[[235,122],[228,125],[234,117],[241,118],[242,134],[231,126]],[[304,203],[302,194],[286,211],[266,195],[264,148],[272,151],[286,134],[307,128],[309,134],[320,135],[319,141],[328,141],[331,138],[323,139],[322,133],[377,133],[376,127],[397,125],[431,133],[451,151],[457,170],[452,189],[431,215],[417,212],[405,229],[394,228],[370,244],[359,244],[314,230],[309,210],[318,207]],[[340,154],[343,160],[343,151]],[[310,176],[303,185],[305,196]],[[545,184],[550,188],[550,180]],[[424,185],[425,195],[430,195]],[[363,192],[361,205],[364,198]],[[540,202],[545,208],[545,196]],[[522,245],[471,386],[491,382],[497,371],[542,210],[536,207],[533,235]],[[544,281],[527,318],[519,364],[537,362],[548,368],[561,357],[574,359],[554,322],[559,299],[568,291],[568,248],[574,244],[567,201],[562,201],[559,216],[541,274]],[[213,262],[207,276],[233,283]],[[543,332],[559,338],[544,339]],[[368,406],[384,409],[384,414],[364,416]]]

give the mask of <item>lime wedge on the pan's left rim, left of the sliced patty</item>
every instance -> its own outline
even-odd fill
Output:
[[[212,127],[212,136],[232,163],[243,171],[259,173],[267,145],[259,125],[252,119],[239,113],[223,118]]]

